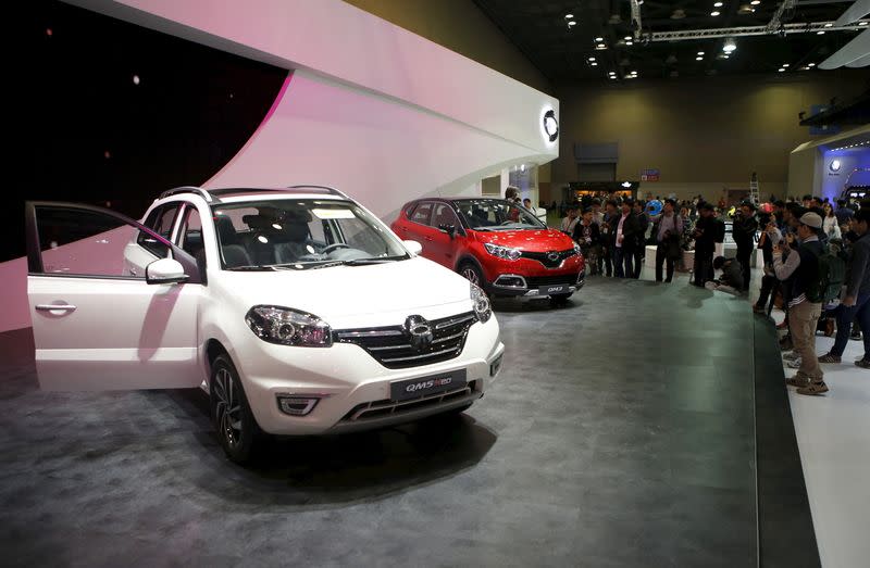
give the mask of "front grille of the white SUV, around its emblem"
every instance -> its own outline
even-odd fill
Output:
[[[411,338],[402,326],[337,330],[333,340],[361,346],[387,368],[403,369],[459,356],[465,346],[469,328],[475,320],[474,313],[468,312],[430,321],[432,343],[422,348],[411,344]]]

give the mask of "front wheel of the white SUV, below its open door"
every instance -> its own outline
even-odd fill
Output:
[[[238,371],[226,354],[215,357],[211,366],[209,408],[226,457],[236,464],[250,462],[257,455],[263,433],[251,413]]]

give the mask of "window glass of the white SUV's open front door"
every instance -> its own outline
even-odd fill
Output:
[[[125,248],[133,245],[138,228],[89,210],[38,206],[35,213],[44,274],[142,278],[124,264]]]

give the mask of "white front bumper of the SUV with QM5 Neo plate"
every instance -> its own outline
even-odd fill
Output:
[[[257,339],[257,338],[254,338]],[[338,433],[382,428],[469,405],[498,376],[505,345],[496,318],[469,329],[462,353],[432,365],[388,369],[362,348],[289,348],[257,339],[260,353],[239,362],[245,393],[260,428],[278,436]],[[467,386],[410,401],[390,401],[394,381],[465,369]],[[320,399],[307,416],[283,413],[278,395]]]

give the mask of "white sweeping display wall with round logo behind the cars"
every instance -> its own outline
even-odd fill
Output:
[[[558,100],[340,0],[70,3],[288,71],[243,150],[179,186],[335,185],[389,220],[410,199],[558,156],[543,121]],[[25,277],[23,258],[0,264],[13,282],[0,331],[30,325]]]

